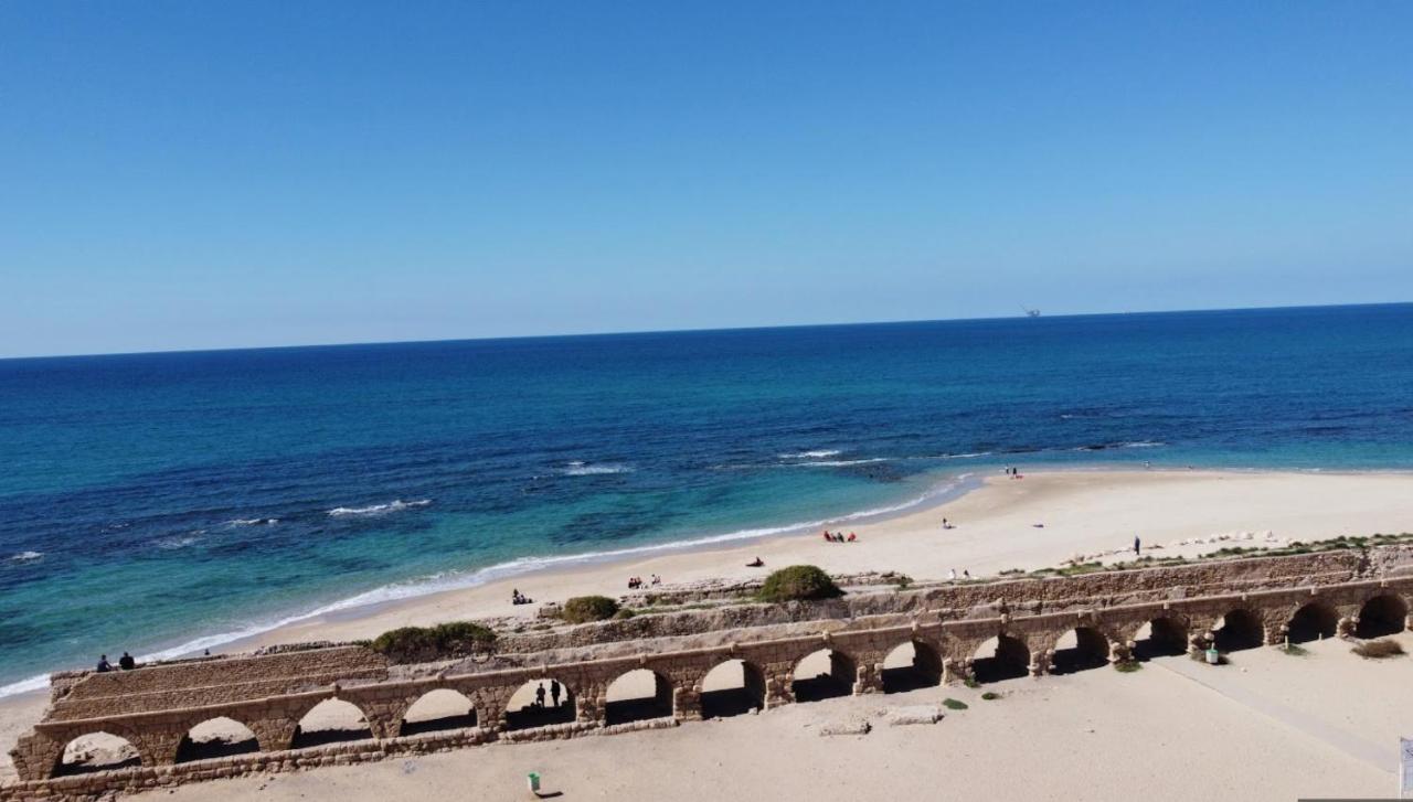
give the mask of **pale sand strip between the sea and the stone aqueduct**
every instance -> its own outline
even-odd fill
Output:
[[[944,517],[957,528],[942,531]],[[1044,528],[1034,528],[1036,522],[1043,522]],[[626,579],[634,575],[657,573],[664,577],[667,586],[671,586],[705,579],[762,576],[769,569],[801,562],[841,573],[903,570],[916,579],[940,579],[945,577],[950,569],[957,569],[958,573],[969,569],[975,576],[986,576],[1010,568],[1033,569],[1057,565],[1077,553],[1092,555],[1123,549],[1132,544],[1135,535],[1140,535],[1149,548],[1167,546],[1153,552],[1156,555],[1190,555],[1222,545],[1260,544],[1258,538],[1252,542],[1236,539],[1181,548],[1176,545],[1183,539],[1210,538],[1217,534],[1270,531],[1280,541],[1308,541],[1338,535],[1413,531],[1413,474],[1051,472],[1030,474],[1023,480],[996,476],[988,479],[985,487],[944,505],[851,529],[858,532],[861,542],[827,544],[818,532],[814,532],[712,551],[673,552],[543,572],[482,587],[451,590],[362,611],[312,618],[232,644],[220,651],[240,651],[271,642],[373,637],[398,626],[444,620],[533,616],[538,604],[514,607],[509,603],[512,586],[543,603],[584,593],[615,596],[625,590]],[[745,563],[757,555],[764,559],[766,568],[745,568]],[[1143,676],[1152,674],[1157,672],[1145,672]],[[1091,679],[1077,679],[1077,682],[1084,685]],[[1362,682],[1362,676],[1355,682]],[[1341,681],[1340,685],[1348,686],[1349,682]],[[1272,685],[1262,688],[1275,692]],[[44,709],[44,696],[34,693],[0,700],[0,743],[13,743],[18,733],[38,719]],[[1358,699],[1345,702],[1359,703]],[[1376,702],[1369,706],[1375,713],[1383,710]],[[1205,707],[1201,712],[1205,714]],[[779,710],[762,720],[776,716],[804,716],[804,713]],[[1358,723],[1361,719],[1355,716],[1352,720]],[[1132,724],[1143,727],[1140,720]],[[728,726],[740,724],[709,724],[709,727]],[[685,727],[682,733],[692,730],[698,727]],[[627,737],[633,738],[630,743],[637,743],[636,738],[661,734]],[[1010,736],[1015,737],[1013,733]],[[668,733],[667,737],[688,736]],[[619,738],[591,738],[591,741],[602,746],[582,748],[619,748],[610,744],[620,743]],[[1183,754],[1197,761],[1194,765],[1202,760],[1195,755],[1205,754],[1191,751],[1205,748],[1197,740],[1187,743],[1187,738],[1174,737],[1163,743],[1169,748],[1181,747]],[[668,747],[644,741],[644,748]],[[479,754],[479,750],[472,750],[471,754]],[[923,761],[927,754],[911,753],[911,757]],[[899,765],[906,765],[901,760],[904,755],[896,757]],[[383,770],[373,767],[367,771]],[[746,770],[740,767],[740,771]],[[821,767],[821,771],[828,774],[825,767]],[[0,781],[10,777],[13,770],[8,765],[8,755],[4,755],[0,760]]]

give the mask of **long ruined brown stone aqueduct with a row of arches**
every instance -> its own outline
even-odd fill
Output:
[[[1287,637],[1386,634],[1410,626],[1410,606],[1413,549],[1390,546],[642,616],[510,635],[504,647],[517,651],[489,662],[391,665],[360,645],[331,645],[65,674],[54,678],[45,719],[11,751],[21,781],[0,788],[0,799],[92,798],[495,740],[671,726],[728,712],[714,707],[704,686],[708,672],[732,661],[743,675],[739,712],[831,692],[985,681],[1007,669],[1041,676],[1146,651],[1180,654],[1214,638],[1219,648],[1239,650]],[[981,651],[988,641],[995,652]],[[910,666],[889,668],[900,647],[911,647]],[[828,668],[797,676],[801,661],[821,650],[829,651]],[[654,698],[615,716],[609,686],[642,669],[653,672]],[[512,709],[517,689],[548,679],[568,693],[567,720]],[[466,716],[451,729],[414,733],[404,722],[408,709],[438,689],[463,695]],[[360,740],[301,741],[301,719],[328,699],[362,712],[367,731]],[[188,734],[216,717],[249,727],[253,751],[184,761]],[[66,744],[92,733],[126,738],[140,765],[64,775]]]

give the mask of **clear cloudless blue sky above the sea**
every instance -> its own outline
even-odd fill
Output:
[[[1413,3],[0,4],[0,356],[1409,299]]]

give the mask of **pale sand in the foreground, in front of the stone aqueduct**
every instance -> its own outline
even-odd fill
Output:
[[[1413,635],[1399,635],[1413,650]],[[609,737],[471,750],[215,781],[153,799],[1280,799],[1392,796],[1397,736],[1413,730],[1413,659],[1362,661],[1340,641],[1212,668],[1163,658],[979,690],[790,705],[760,716]],[[952,696],[971,709],[889,726],[890,707]],[[866,736],[820,737],[866,716]]]

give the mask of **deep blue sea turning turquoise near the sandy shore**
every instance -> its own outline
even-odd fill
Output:
[[[1413,467],[1413,305],[0,360],[0,685],[1133,460]]]

